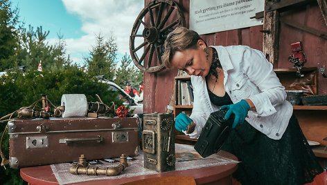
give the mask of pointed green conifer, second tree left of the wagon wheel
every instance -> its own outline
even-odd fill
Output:
[[[96,46],[90,52],[89,57],[85,57],[87,72],[91,76],[104,75],[106,79],[114,79],[114,70],[116,66],[117,44],[114,37],[110,36],[105,40],[103,36],[96,36]]]

